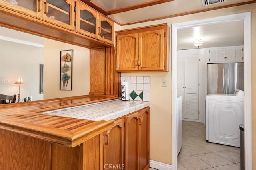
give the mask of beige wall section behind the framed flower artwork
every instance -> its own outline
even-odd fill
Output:
[[[73,49],[72,90],[60,90],[60,51]],[[44,99],[89,94],[89,49],[44,39]]]

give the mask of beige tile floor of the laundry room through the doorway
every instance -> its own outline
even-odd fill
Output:
[[[240,148],[206,142],[204,123],[182,121],[178,170],[240,170]]]

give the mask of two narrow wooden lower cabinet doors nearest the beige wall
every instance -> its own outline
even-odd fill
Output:
[[[124,117],[125,170],[149,168],[149,107]]]

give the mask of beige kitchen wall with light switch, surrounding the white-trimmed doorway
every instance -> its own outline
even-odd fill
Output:
[[[252,12],[252,145],[253,160],[256,159],[256,3],[244,6],[236,6],[220,10],[201,12],[186,16],[168,18],[158,21],[150,21],[134,25],[122,26],[121,29],[155,25],[160,23],[180,23],[204,18],[212,18],[242,12]],[[171,44],[170,44],[171,47]],[[171,53],[171,51],[170,51]],[[170,57],[171,61],[171,57]],[[172,164],[172,128],[171,128],[171,71],[122,73],[122,76],[150,76],[150,159],[166,164]],[[162,78],[166,78],[167,87],[161,87]],[[254,168],[256,162],[254,161]]]

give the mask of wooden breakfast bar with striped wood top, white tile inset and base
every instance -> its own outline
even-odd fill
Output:
[[[2,104],[0,170],[101,170],[104,135],[123,126],[120,117],[141,109],[145,116],[148,106],[96,94]]]

